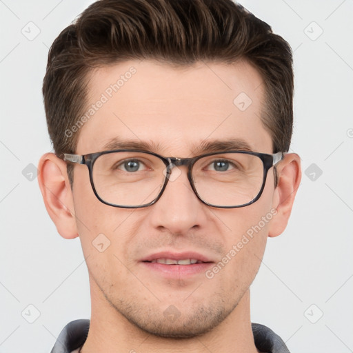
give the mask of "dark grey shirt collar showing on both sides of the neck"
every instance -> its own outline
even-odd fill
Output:
[[[90,320],[71,321],[63,327],[51,353],[72,353],[85,343],[90,328]],[[256,348],[264,353],[290,353],[281,337],[259,323],[252,323],[252,333]]]

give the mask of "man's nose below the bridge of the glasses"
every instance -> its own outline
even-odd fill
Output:
[[[207,207],[194,194],[186,166],[174,166],[161,198],[150,206],[149,216],[155,229],[185,234],[205,224]]]

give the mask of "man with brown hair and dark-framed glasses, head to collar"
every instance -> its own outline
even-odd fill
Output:
[[[43,95],[39,184],[92,301],[52,352],[288,352],[249,290],[301,179],[288,43],[231,0],[97,1]]]

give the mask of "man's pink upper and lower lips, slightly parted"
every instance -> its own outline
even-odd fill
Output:
[[[155,259],[196,259],[202,263],[193,263],[190,265],[166,265],[165,263],[152,263]],[[207,256],[198,252],[157,252],[150,254],[140,261],[141,265],[149,272],[157,272],[159,276],[165,279],[188,279],[192,276],[204,274],[210,266],[214,265],[214,261]]]

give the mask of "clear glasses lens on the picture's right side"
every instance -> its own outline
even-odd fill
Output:
[[[198,159],[192,168],[199,197],[215,206],[250,203],[263,184],[263,162],[253,154],[220,153]]]

